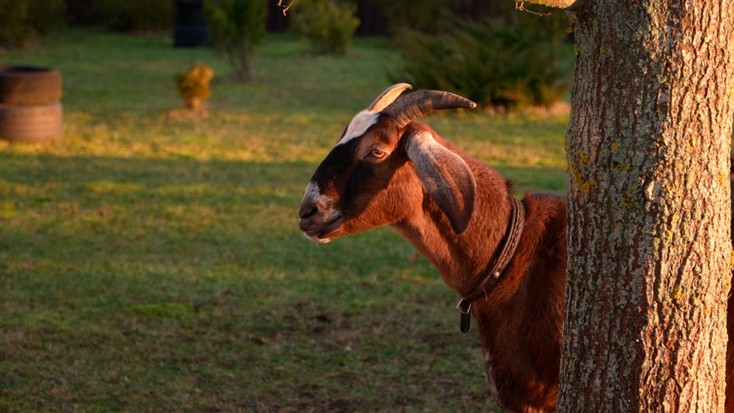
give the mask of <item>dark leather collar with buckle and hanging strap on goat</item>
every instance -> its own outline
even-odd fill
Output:
[[[457,309],[461,312],[461,323],[459,326],[462,333],[469,331],[469,326],[471,325],[471,304],[479,300],[479,298],[489,295],[497,287],[497,284],[499,284],[504,270],[506,270],[512,257],[515,256],[515,250],[517,250],[517,244],[520,243],[520,236],[523,234],[524,227],[525,207],[522,202],[517,201],[513,197],[512,212],[510,212],[507,233],[505,234],[504,245],[500,255],[490,270],[482,273],[484,275],[482,282],[472,292],[462,297],[459,300],[459,304],[457,304]]]

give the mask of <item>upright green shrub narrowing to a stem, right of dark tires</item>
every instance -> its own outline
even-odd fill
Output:
[[[206,0],[211,43],[227,57],[235,79],[255,78],[252,52],[265,38],[267,4],[263,0]]]

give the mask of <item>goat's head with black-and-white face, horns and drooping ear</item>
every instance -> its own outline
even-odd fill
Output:
[[[312,240],[327,243],[398,223],[421,208],[425,195],[455,232],[465,231],[473,212],[474,176],[435,132],[413,121],[437,109],[476,104],[437,90],[399,97],[410,87],[388,87],[357,113],[313,173],[299,209],[300,229]]]

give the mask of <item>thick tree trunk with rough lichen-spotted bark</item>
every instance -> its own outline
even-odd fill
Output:
[[[559,412],[721,411],[734,1],[577,6]]]

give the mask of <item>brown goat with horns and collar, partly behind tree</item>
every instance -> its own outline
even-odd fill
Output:
[[[495,400],[516,412],[554,411],[565,198],[530,194],[515,207],[510,182],[415,121],[437,109],[474,107],[473,102],[439,91],[398,97],[407,88],[389,87],[344,129],[310,179],[299,227],[326,243],[393,226],[462,297],[481,295],[466,310],[479,328]],[[505,256],[517,209],[524,209],[525,220],[515,254],[491,276]]]

